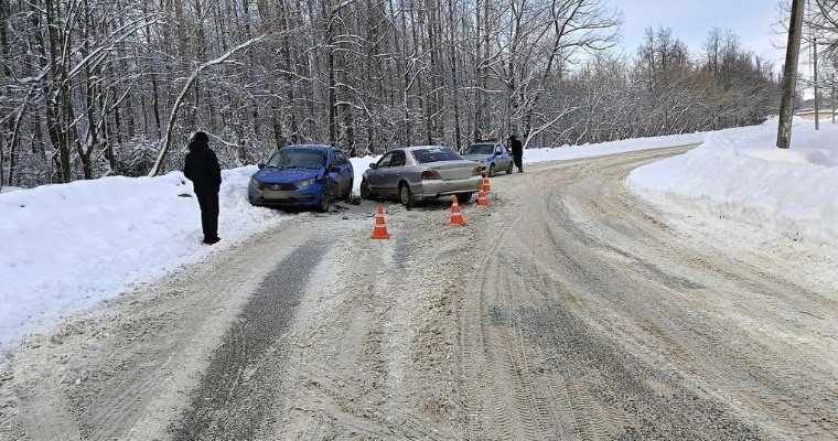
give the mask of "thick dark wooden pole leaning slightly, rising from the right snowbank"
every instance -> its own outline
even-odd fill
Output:
[[[780,125],[777,126],[777,148],[787,149],[792,142],[792,118],[794,117],[794,95],[797,83],[797,57],[801,53],[803,31],[803,8],[805,0],[792,0],[792,23],[788,26],[786,61],[783,68],[782,98],[780,101]]]

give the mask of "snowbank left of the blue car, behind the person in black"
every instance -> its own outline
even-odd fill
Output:
[[[280,213],[247,203],[256,170],[222,172],[223,240],[213,247],[200,244],[198,205],[181,172],[0,194],[0,346],[280,222]]]

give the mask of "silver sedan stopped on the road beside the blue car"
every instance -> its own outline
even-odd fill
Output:
[[[398,197],[410,207],[431,197],[456,195],[465,203],[483,183],[481,166],[449,147],[420,146],[390,150],[369,164],[361,197]]]

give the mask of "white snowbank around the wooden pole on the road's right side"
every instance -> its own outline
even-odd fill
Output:
[[[628,185],[678,204],[816,244],[838,243],[838,125],[795,119],[775,147],[777,119],[712,132],[686,154],[634,170]]]

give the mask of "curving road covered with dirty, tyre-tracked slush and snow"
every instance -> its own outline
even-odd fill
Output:
[[[369,240],[364,202],[257,233],[24,341],[0,438],[838,437],[838,259],[625,185],[684,151],[497,176],[465,228],[387,204]]]

